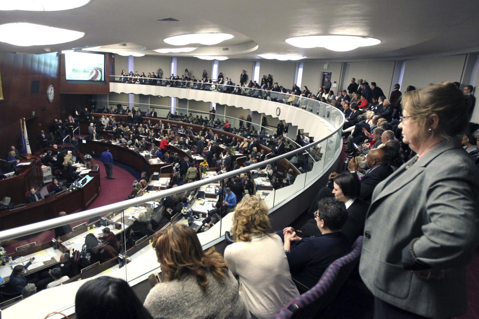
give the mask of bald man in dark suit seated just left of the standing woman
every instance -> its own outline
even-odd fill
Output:
[[[393,169],[386,162],[386,155],[383,149],[369,151],[366,162],[370,170],[366,175],[358,177],[361,181],[361,192],[359,197],[369,202],[371,201],[374,187],[388,177],[393,172]],[[358,160],[352,158],[349,161],[348,169],[350,172],[356,173],[357,168]]]

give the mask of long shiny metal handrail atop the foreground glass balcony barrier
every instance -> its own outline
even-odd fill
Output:
[[[70,215],[66,215],[66,216],[62,216],[62,217],[56,217],[56,218],[36,222],[36,223],[33,223],[33,224],[29,224],[29,225],[24,225],[24,226],[20,226],[20,227],[15,227],[15,228],[3,230],[3,231],[0,232],[0,242],[5,241],[5,240],[9,240],[9,239],[13,239],[13,238],[18,238],[18,237],[21,237],[21,236],[26,236],[26,235],[38,233],[38,232],[41,232],[41,231],[44,231],[44,230],[50,230],[50,229],[53,229],[53,228],[58,227],[58,226],[74,223],[74,222],[77,222],[77,221],[80,221],[80,220],[89,219],[91,217],[103,215],[103,214],[106,214],[106,213],[109,213],[109,212],[112,212],[112,211],[129,208],[131,206],[138,205],[138,204],[141,204],[141,203],[144,203],[144,202],[147,202],[147,201],[154,201],[154,200],[157,200],[157,199],[164,198],[166,196],[170,196],[170,195],[173,195],[173,194],[176,194],[176,193],[185,192],[185,191],[188,191],[188,190],[191,190],[191,189],[203,186],[203,185],[214,183],[214,182],[223,180],[225,178],[234,177],[236,175],[239,175],[240,173],[244,173],[244,172],[247,172],[247,171],[250,171],[250,170],[254,170],[254,169],[263,167],[267,164],[273,163],[277,160],[282,160],[282,159],[291,157],[291,156],[293,156],[297,153],[303,152],[303,151],[305,151],[305,150],[307,150],[311,147],[314,147],[314,146],[318,145],[319,143],[329,139],[331,136],[336,134],[341,129],[342,129],[342,126],[336,128],[336,130],[331,132],[331,134],[329,134],[328,136],[326,136],[326,137],[324,137],[324,138],[322,138],[318,141],[315,141],[311,144],[308,144],[304,147],[301,147],[299,149],[293,150],[291,152],[285,153],[283,155],[274,157],[274,158],[269,159],[269,160],[264,160],[262,162],[259,162],[259,163],[253,164],[253,165],[249,165],[249,166],[242,167],[242,168],[239,168],[239,169],[236,169],[236,170],[232,170],[232,171],[229,171],[227,173],[220,174],[218,176],[212,176],[212,177],[209,177],[209,178],[206,178],[206,179],[201,179],[201,180],[198,180],[198,181],[194,181],[194,182],[182,185],[182,186],[177,186],[177,187],[174,187],[174,188],[165,189],[165,190],[162,190],[158,193],[143,195],[141,197],[128,199],[128,200],[121,201],[121,202],[118,202],[118,203],[113,203],[113,204],[109,204],[109,205],[105,205],[105,206],[101,206],[101,207],[97,207],[97,208],[88,209],[88,210],[85,210],[83,212],[78,212],[78,213],[75,213],[75,214],[70,214]]]

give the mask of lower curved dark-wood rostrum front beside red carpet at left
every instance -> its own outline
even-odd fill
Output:
[[[93,177],[82,188],[61,195],[52,195],[37,202],[24,204],[22,207],[0,211],[0,230],[28,225],[58,217],[58,213],[76,213],[88,208],[100,193],[100,174],[98,165],[93,165],[88,172]],[[25,201],[23,194],[23,201]]]

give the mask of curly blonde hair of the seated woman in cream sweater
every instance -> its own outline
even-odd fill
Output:
[[[264,200],[256,197],[246,197],[240,201],[233,215],[233,238],[236,241],[251,241],[251,235],[268,235],[271,227],[268,217],[268,207]]]

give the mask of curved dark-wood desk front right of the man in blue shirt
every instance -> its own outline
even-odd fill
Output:
[[[173,167],[170,163],[162,162],[158,164],[152,164],[143,155],[121,145],[92,140],[82,140],[79,144],[81,153],[98,157],[105,151],[106,147],[110,149],[113,160],[127,164],[139,171],[146,171],[148,175],[152,175],[155,171],[161,171],[164,173],[173,171]],[[162,167],[165,167],[165,169],[162,169]]]

